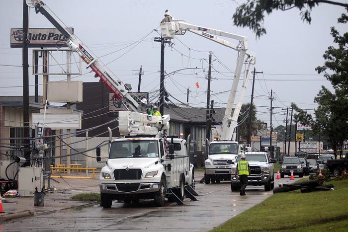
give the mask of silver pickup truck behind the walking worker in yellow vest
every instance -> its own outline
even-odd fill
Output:
[[[264,185],[265,191],[270,191],[274,188],[274,166],[275,159],[271,159],[264,152],[246,152],[246,160],[249,162],[251,174],[248,176],[248,185],[261,186]],[[236,175],[238,161],[241,160],[240,153],[231,169],[231,190],[239,191],[241,188],[239,175]]]

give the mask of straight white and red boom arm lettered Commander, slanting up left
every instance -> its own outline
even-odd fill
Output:
[[[95,73],[94,77],[99,77],[100,81],[104,82],[109,87],[110,91],[114,93],[113,99],[117,99],[123,102],[126,108],[130,108],[137,112],[138,103],[128,93],[127,89],[123,86],[122,81],[117,79],[111,71],[104,67],[97,59],[93,57],[91,52],[87,51],[87,47],[83,46],[83,43],[69,30],[64,27],[63,23],[60,23],[56,17],[52,16],[47,11],[47,6],[41,0],[27,0],[27,4],[31,7],[35,7],[36,13],[43,14],[65,37],[68,39],[67,46],[73,51],[79,54],[83,61],[87,63],[87,68]],[[116,80],[117,79],[117,80]]]

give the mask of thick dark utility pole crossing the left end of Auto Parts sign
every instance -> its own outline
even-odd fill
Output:
[[[24,166],[30,166],[30,145],[29,145],[29,64],[28,64],[28,27],[29,8],[23,0],[23,136],[24,136]]]

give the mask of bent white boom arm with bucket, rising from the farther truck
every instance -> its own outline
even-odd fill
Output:
[[[248,50],[248,39],[245,36],[232,34],[229,32],[224,32],[220,30],[215,30],[211,28],[196,26],[192,24],[188,24],[185,21],[182,20],[172,20],[171,22],[164,22],[161,23],[161,31],[162,31],[162,37],[166,39],[173,39],[176,35],[183,35],[186,31],[190,31],[194,34],[197,34],[199,36],[202,36],[204,38],[207,38],[209,40],[212,40],[216,43],[219,43],[221,45],[224,45],[226,47],[232,48],[236,51],[238,51],[238,58],[237,58],[237,64],[236,69],[234,72],[233,77],[233,83],[231,87],[230,96],[228,98],[224,118],[222,120],[222,133],[220,136],[220,140],[236,140],[236,133],[234,133],[236,127],[238,126],[238,116],[241,111],[244,95],[247,90],[247,86],[249,83],[249,78],[252,70],[255,66],[255,54],[253,52],[250,52]],[[213,36],[213,35],[223,36],[231,39],[238,40],[238,44],[233,44],[227,40],[221,39],[219,37]],[[242,84],[242,90],[239,96],[239,100],[237,101],[235,110],[233,112],[233,115],[231,117],[232,113],[232,107],[233,103],[236,98],[236,92],[237,87],[239,83],[239,78],[241,76],[243,64],[245,61],[245,56],[248,58],[246,59],[247,68],[244,71],[244,78],[243,78],[243,84]]]

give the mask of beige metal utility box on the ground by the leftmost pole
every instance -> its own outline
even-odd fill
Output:
[[[18,172],[18,193],[23,196],[34,196],[35,187],[42,189],[42,167],[21,167]]]

